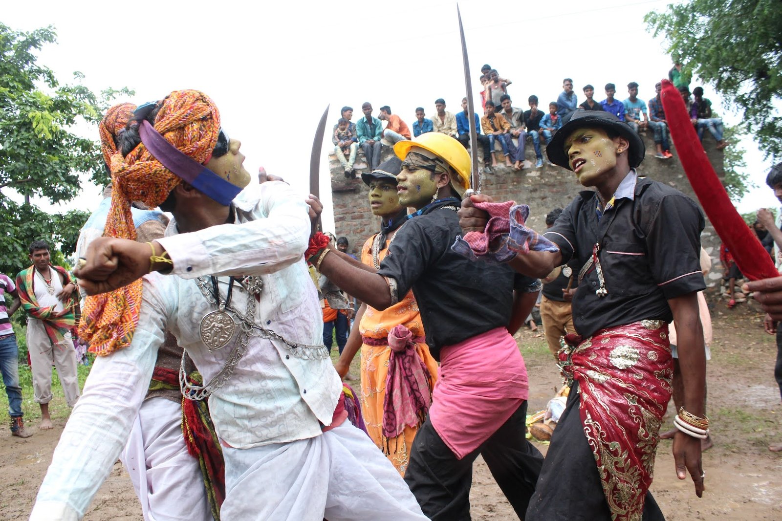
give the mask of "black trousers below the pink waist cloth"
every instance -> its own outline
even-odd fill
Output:
[[[415,435],[404,480],[429,519],[470,519],[472,462],[479,454],[518,518],[524,519],[543,465],[543,455],[526,440],[526,415],[524,401],[481,447],[462,459],[456,458],[426,419]],[[454,422],[458,419],[454,418]]]

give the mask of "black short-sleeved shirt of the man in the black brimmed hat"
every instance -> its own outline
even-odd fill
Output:
[[[701,210],[682,192],[638,179],[634,200],[615,201],[597,220],[597,194],[581,192],[543,235],[562,260],[598,258],[608,295],[599,297],[597,270],[584,275],[573,296],[573,325],[583,337],[644,319],[671,322],[668,299],[705,289],[701,273]]]

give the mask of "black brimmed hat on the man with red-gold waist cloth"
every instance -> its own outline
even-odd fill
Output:
[[[576,129],[589,127],[610,129],[625,138],[630,143],[627,159],[631,168],[637,167],[644,160],[646,146],[637,132],[612,113],[597,112],[596,110],[577,110],[572,113],[570,119],[562,125],[562,128],[557,131],[554,138],[551,138],[551,142],[546,146],[548,160],[560,167],[572,170],[568,154],[565,152],[565,139]]]

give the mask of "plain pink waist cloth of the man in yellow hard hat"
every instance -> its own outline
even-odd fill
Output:
[[[516,341],[508,329],[492,329],[440,350],[429,419],[461,459],[488,440],[528,393],[527,368]]]

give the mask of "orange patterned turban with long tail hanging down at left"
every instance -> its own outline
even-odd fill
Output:
[[[220,113],[203,92],[174,91],[160,102],[154,128],[182,153],[203,163],[217,145]],[[113,190],[103,235],[135,239],[131,201],[157,207],[181,179],[163,167],[143,143],[124,158],[121,153],[114,153],[110,167]],[[109,293],[88,296],[79,333],[89,341],[90,351],[104,356],[129,346],[138,324],[141,302],[141,280]]]

